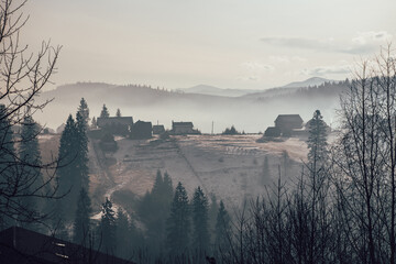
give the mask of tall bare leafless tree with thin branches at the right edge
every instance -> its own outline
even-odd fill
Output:
[[[349,253],[361,263],[395,263],[395,85],[389,45],[361,64],[341,99],[333,179]]]

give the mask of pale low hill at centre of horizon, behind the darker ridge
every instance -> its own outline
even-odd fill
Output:
[[[258,92],[262,90],[252,90],[252,89],[223,89],[215,86],[208,85],[198,85],[190,88],[182,88],[178,91],[186,94],[200,94],[209,96],[222,96],[222,97],[240,97],[248,94]]]

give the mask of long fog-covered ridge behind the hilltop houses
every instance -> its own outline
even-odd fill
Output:
[[[90,117],[98,117],[103,103],[110,114],[120,108],[122,116],[133,120],[151,121],[170,129],[172,121],[191,121],[204,133],[221,133],[232,124],[246,133],[264,132],[273,125],[280,113],[299,113],[305,121],[320,109],[327,123],[332,123],[339,95],[344,82],[326,82],[302,88],[273,88],[242,97],[199,95],[182,91],[153,89],[150,86],[117,86],[100,82],[78,82],[59,86],[41,94],[37,100],[54,99],[36,119],[42,124],[56,129],[75,114],[81,97],[90,110]]]

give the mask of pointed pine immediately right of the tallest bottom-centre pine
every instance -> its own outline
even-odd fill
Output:
[[[208,198],[198,187],[193,198],[193,248],[200,255],[208,252],[210,244],[208,220]]]

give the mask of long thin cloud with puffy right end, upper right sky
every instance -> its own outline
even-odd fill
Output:
[[[263,37],[263,43],[301,50],[311,50],[318,52],[336,52],[348,54],[370,54],[378,51],[381,44],[389,42],[393,35],[386,31],[359,32],[350,40],[336,41],[329,38],[309,38],[309,37],[286,37],[268,36]]]

